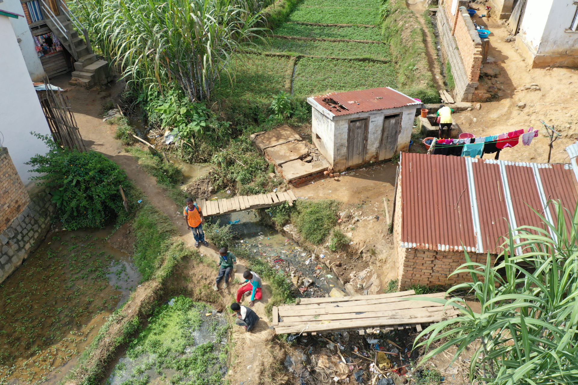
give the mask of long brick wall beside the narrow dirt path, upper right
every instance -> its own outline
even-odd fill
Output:
[[[447,3],[451,3],[451,0],[446,0],[446,5]],[[454,99],[457,102],[473,102],[480,76],[481,39],[465,8],[460,7],[456,12],[458,18],[455,19],[446,11],[446,8],[438,9],[436,24],[444,61],[450,63],[451,73],[455,80]]]

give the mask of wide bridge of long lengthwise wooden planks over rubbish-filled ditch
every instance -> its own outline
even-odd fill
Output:
[[[416,297],[440,298],[445,293],[415,295],[399,293],[340,298],[302,298],[298,305],[273,306],[273,326],[277,334],[354,329],[360,334],[394,328],[416,327],[422,323],[440,322],[459,312],[453,306]]]

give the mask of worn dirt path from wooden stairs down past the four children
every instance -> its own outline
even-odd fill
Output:
[[[115,103],[118,102],[118,95],[123,91],[124,82],[112,83],[109,87],[99,91],[96,88],[87,90],[82,87],[71,86],[68,84],[69,80],[70,74],[66,74],[51,79],[51,83],[67,90],[65,95],[70,99],[72,111],[75,113],[80,133],[87,148],[100,152],[117,163],[118,166],[122,167],[135,185],[143,190],[144,195],[151,203],[172,219],[172,222],[180,231],[181,239],[186,245],[194,248],[195,240],[191,231],[187,229],[184,223],[182,208],[177,207],[177,205],[165,195],[162,187],[157,185],[155,178],[142,170],[133,156],[123,151],[123,146],[118,140],[114,139],[115,126],[102,121],[102,103],[111,98]],[[209,256],[214,261],[218,261],[218,252],[213,245],[209,244],[208,247],[201,245],[199,252],[205,256]],[[238,261],[238,270],[235,277],[231,277],[231,282],[234,278],[239,279],[241,282],[244,281],[243,272],[246,261]],[[190,271],[188,274],[198,279],[196,271]],[[214,277],[216,277],[216,272],[213,272],[213,274]],[[214,277],[212,279],[214,279]],[[208,279],[208,282],[210,280],[211,279]],[[210,282],[211,286],[213,282]],[[225,304],[230,304],[233,301],[232,295],[234,295],[237,288],[238,286],[232,286],[228,289],[220,289],[218,294],[223,298]],[[239,378],[242,378],[241,381],[245,381],[247,385],[258,384],[261,371],[263,371],[264,368],[268,368],[268,365],[269,367],[271,366],[271,362],[267,363],[267,361],[271,361],[271,352],[269,352],[268,346],[273,335],[271,331],[268,330],[269,323],[265,315],[265,305],[268,303],[270,297],[271,293],[267,289],[266,282],[264,282],[263,298],[260,301],[255,301],[253,308],[263,321],[260,323],[260,327],[258,327],[254,333],[251,333],[250,337],[245,335],[247,333],[241,327],[234,326],[232,339],[233,341],[238,341],[238,343],[236,343],[235,350],[232,353],[234,356],[232,359],[235,361],[235,365],[229,371],[229,375],[238,376],[238,374],[234,373],[241,372],[242,376]],[[251,355],[246,354],[248,344],[251,345],[250,349],[254,349]],[[247,362],[249,362],[249,364],[247,364]],[[235,370],[236,365],[239,365],[239,368],[244,365],[243,370]],[[248,378],[251,379],[249,382],[247,382]]]

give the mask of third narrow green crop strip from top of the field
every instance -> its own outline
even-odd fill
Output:
[[[302,54],[374,59],[388,59],[391,57],[387,44],[305,42],[289,39],[271,39],[271,48],[266,47],[264,51],[293,53],[295,56]]]

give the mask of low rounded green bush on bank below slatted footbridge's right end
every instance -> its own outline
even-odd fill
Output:
[[[320,245],[337,225],[339,202],[335,200],[297,200],[297,214],[291,218],[306,241]]]

